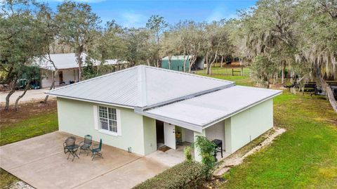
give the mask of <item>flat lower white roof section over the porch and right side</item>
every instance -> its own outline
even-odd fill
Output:
[[[280,93],[282,91],[249,86],[232,86],[153,108],[140,112],[140,114],[201,132],[206,126],[220,122]]]

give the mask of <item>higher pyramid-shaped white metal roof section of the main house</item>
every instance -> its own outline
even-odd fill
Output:
[[[138,65],[47,93],[111,105],[150,108],[232,85],[233,82],[222,79]]]

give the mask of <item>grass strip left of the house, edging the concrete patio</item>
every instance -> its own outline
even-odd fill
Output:
[[[58,115],[56,111],[45,115],[37,115],[29,119],[20,120],[15,124],[1,125],[0,145],[15,143],[57,130]],[[0,188],[11,188],[11,184],[16,181],[19,181],[19,179],[4,171],[4,169],[0,169]]]

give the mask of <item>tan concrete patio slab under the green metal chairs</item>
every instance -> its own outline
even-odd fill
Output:
[[[109,145],[103,145],[104,159],[81,154],[72,162],[62,146],[68,136],[56,131],[1,146],[0,167],[34,188],[132,188],[169,168]],[[77,137],[77,143],[82,140]]]

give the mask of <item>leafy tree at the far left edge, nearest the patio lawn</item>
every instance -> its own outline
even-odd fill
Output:
[[[6,73],[4,82],[10,86],[5,110],[9,110],[9,99],[22,70],[44,53],[45,41],[34,12],[36,8],[39,4],[35,1],[5,1],[1,4],[0,69]]]

